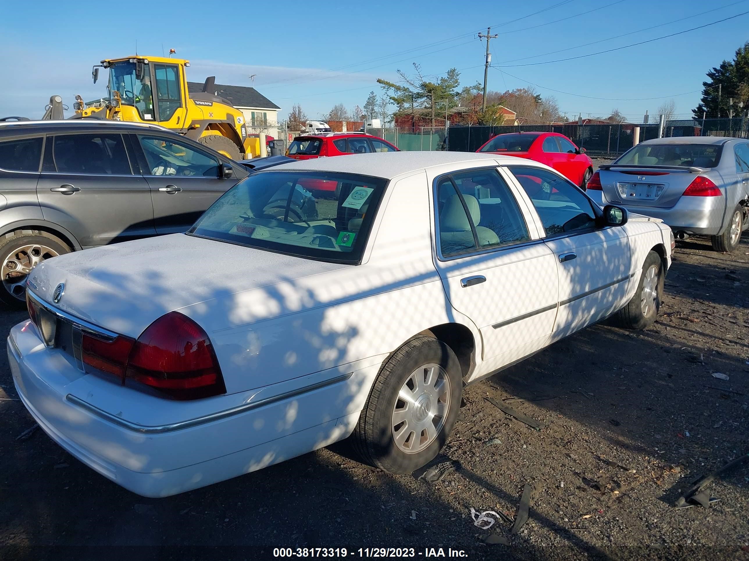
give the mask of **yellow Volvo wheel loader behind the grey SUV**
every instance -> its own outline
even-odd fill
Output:
[[[202,92],[188,93],[186,67],[189,61],[141,55],[101,61],[91,75],[96,83],[99,69],[109,70],[109,99],[85,103],[76,96],[73,118],[156,123],[231,159],[258,156],[250,150],[242,111],[215,95],[215,77]]]

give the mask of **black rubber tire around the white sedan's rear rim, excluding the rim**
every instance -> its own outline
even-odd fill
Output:
[[[398,448],[392,433],[392,415],[398,392],[412,373],[427,364],[439,365],[449,387],[447,412],[437,437],[423,450],[406,453]],[[434,337],[419,336],[395,351],[383,364],[372,384],[359,423],[351,435],[354,451],[363,462],[389,473],[411,473],[431,462],[440,452],[455,425],[463,395],[463,378],[452,349]]]

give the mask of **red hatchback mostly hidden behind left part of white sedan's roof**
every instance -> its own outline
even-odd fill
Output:
[[[297,160],[307,160],[321,156],[346,156],[372,152],[398,152],[398,148],[372,135],[332,132],[322,135],[297,136],[288,145],[286,156]]]

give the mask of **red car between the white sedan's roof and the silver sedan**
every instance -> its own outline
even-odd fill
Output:
[[[593,174],[593,162],[565,135],[558,132],[510,132],[491,138],[476,152],[518,156],[541,162],[585,189]]]

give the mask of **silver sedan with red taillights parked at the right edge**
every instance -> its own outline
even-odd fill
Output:
[[[711,236],[734,251],[749,227],[749,139],[655,138],[601,165],[588,183],[601,206],[661,218],[677,239]]]

